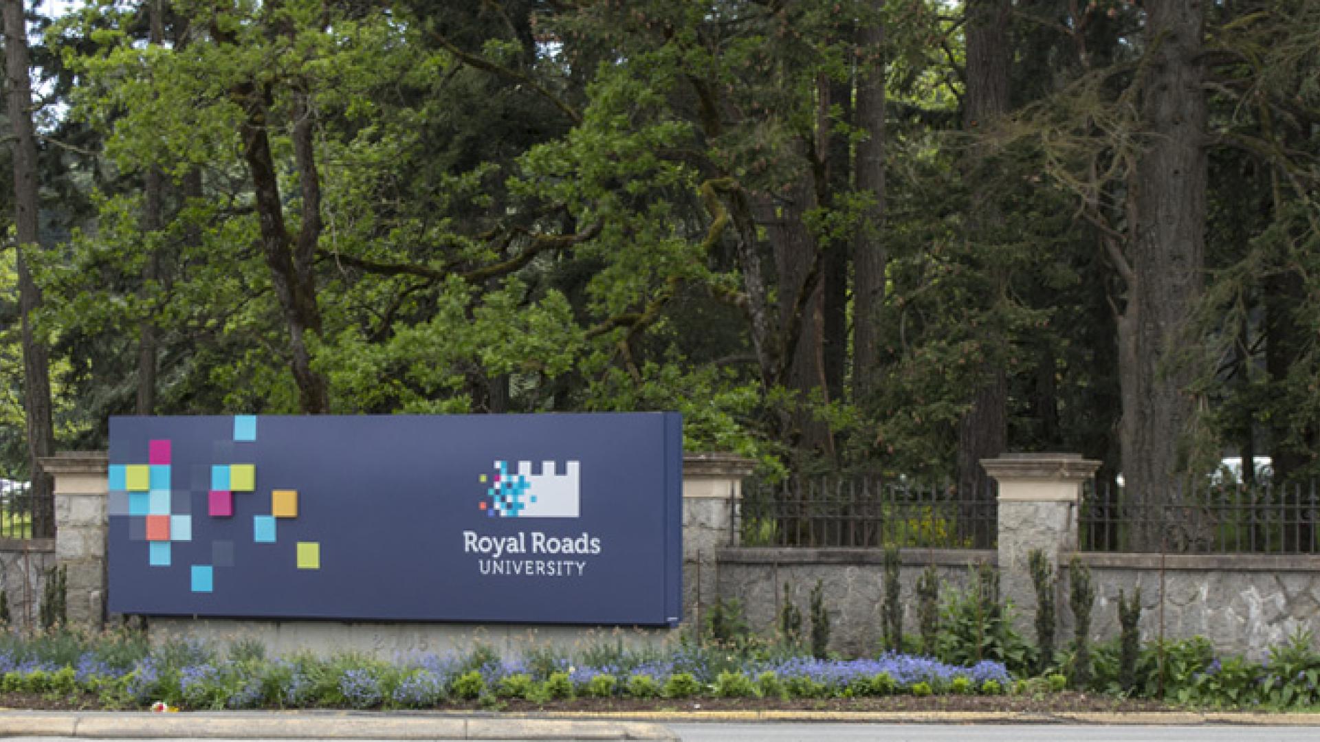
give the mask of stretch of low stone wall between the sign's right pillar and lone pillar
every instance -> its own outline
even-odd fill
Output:
[[[903,549],[900,572],[903,632],[917,634],[916,580],[927,565],[940,570],[948,589],[961,589],[978,561],[994,564],[997,553],[973,549]],[[785,586],[809,626],[809,595],[822,582],[830,613],[830,643],[843,655],[880,648],[884,565],[880,549],[730,548],[719,551],[719,595],[737,599],[754,631],[775,632]]]

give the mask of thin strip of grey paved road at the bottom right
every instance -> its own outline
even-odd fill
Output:
[[[1316,742],[1320,726],[669,724],[684,742]]]

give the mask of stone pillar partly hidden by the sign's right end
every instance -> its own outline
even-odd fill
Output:
[[[742,481],[755,462],[729,453],[682,457],[682,622],[700,626],[719,597],[715,551],[735,545]]]

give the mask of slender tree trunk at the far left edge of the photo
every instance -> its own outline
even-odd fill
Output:
[[[32,314],[41,305],[41,290],[32,280],[26,255],[41,250],[37,234],[37,132],[32,124],[32,78],[28,74],[28,26],[22,0],[4,0],[4,50],[7,104],[13,127],[13,194],[17,231],[18,313],[22,325],[22,401],[26,412],[28,461],[32,478],[32,535],[53,536],[54,495],[51,479],[40,459],[54,455],[55,434],[50,417],[50,355],[33,333]]]

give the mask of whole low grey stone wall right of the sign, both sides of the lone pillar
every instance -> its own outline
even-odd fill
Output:
[[[927,564],[939,566],[945,594],[949,589],[964,589],[970,565],[978,560],[994,564],[995,556],[970,549],[904,549],[900,576],[904,634],[917,632],[916,578]],[[1163,622],[1167,639],[1205,636],[1224,654],[1262,659],[1271,646],[1286,642],[1298,628],[1320,636],[1320,557],[1177,555],[1164,557],[1163,570],[1159,555],[1089,553],[1081,558],[1092,569],[1096,586],[1094,642],[1118,636],[1118,593],[1131,595],[1138,586],[1143,640],[1158,639]],[[830,648],[866,655],[880,647],[884,569],[879,549],[726,548],[719,552],[718,569],[719,595],[737,598],[758,632],[774,634],[785,584],[805,617],[808,593],[821,580],[833,628]],[[1073,636],[1065,580],[1064,568],[1056,597],[1060,643]],[[1015,602],[1014,609],[1019,630],[1032,642],[1035,609],[1034,595]]]

